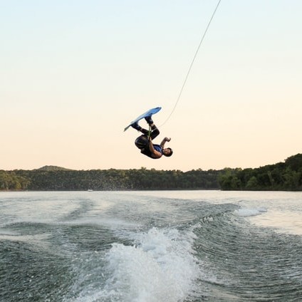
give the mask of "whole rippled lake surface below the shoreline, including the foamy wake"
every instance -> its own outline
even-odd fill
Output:
[[[302,192],[0,192],[0,301],[302,301]]]

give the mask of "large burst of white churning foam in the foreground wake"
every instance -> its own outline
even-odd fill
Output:
[[[80,294],[78,301],[182,301],[199,276],[194,234],[152,228],[135,235],[135,245],[113,244],[108,254],[104,288]]]

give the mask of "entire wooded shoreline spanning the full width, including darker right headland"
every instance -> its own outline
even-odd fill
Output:
[[[46,166],[36,170],[0,170],[0,190],[302,190],[302,154],[255,169],[224,170],[68,170]]]

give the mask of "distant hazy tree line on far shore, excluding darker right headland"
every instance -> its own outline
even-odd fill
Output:
[[[192,170],[38,170],[0,171],[0,190],[218,189],[219,171]]]

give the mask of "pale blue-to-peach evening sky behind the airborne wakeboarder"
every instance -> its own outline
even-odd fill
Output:
[[[0,0],[0,170],[260,167],[302,152],[302,1]],[[172,157],[125,126],[150,108]],[[140,125],[145,126],[145,120]]]

